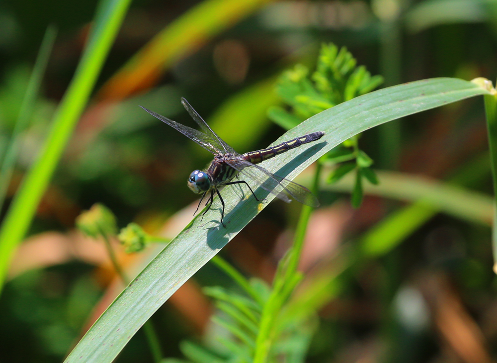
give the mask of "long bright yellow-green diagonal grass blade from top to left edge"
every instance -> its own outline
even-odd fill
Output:
[[[24,237],[64,147],[83,112],[129,3],[130,0],[103,0],[98,5],[76,74],[54,116],[39,157],[22,182],[1,226],[0,291],[15,247]]]

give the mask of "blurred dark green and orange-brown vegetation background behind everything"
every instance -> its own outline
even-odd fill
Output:
[[[0,160],[45,30],[50,24],[58,29],[20,136],[1,217],[39,154],[96,6],[97,1],[0,3]],[[186,178],[212,156],[138,105],[194,127],[179,102],[185,97],[243,153],[266,147],[284,132],[267,117],[269,107],[282,105],[276,79],[296,63],[314,69],[322,43],[347,47],[358,64],[390,86],[442,76],[494,80],[496,36],[494,0],[133,1],[12,262],[0,296],[0,362],[62,361],[115,296],[115,273],[103,246],[75,230],[83,210],[100,202],[115,213],[119,227],[136,222],[165,235],[191,219],[191,208],[182,211],[196,201]],[[373,167],[385,170],[383,181],[399,185],[400,194],[419,189],[422,196],[423,180],[417,183],[414,176],[423,176],[481,192],[483,199],[461,201],[480,205],[490,203],[492,194],[486,138],[483,102],[475,98],[377,127],[359,143],[375,160]],[[391,171],[414,183],[403,191]],[[409,197],[382,198],[381,192],[354,210],[346,189],[324,188],[320,194],[302,269],[349,258],[338,252],[348,241],[370,241],[381,252],[341,276],[340,293],[322,308],[305,362],[495,360],[491,213],[471,221],[455,216],[450,206],[438,213],[406,204]],[[448,196],[456,202],[459,197]],[[244,274],[271,281],[299,209],[272,202],[225,248],[224,257]],[[116,248],[124,265],[140,258]],[[205,342],[219,330],[209,320],[214,307],[201,287],[230,284],[208,264],[159,309],[152,320],[166,357],[182,358],[182,341]],[[153,362],[142,334],[117,362]]]

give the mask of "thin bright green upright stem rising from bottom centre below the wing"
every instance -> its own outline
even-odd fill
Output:
[[[319,180],[321,176],[322,165],[317,163],[314,181],[311,188],[313,193],[319,191]],[[255,341],[254,363],[265,363],[268,361],[272,343],[275,335],[275,319],[280,311],[286,298],[291,294],[299,282],[299,273],[297,267],[300,261],[300,255],[304,246],[304,238],[307,232],[309,219],[314,208],[304,205],[300,213],[299,222],[295,231],[295,238],[292,249],[280,264],[285,264],[283,269],[277,273],[273,285],[273,291],[264,305],[260,318],[259,333]],[[281,268],[281,266],[280,266]]]

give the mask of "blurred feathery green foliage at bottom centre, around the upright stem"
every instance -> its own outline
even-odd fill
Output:
[[[260,318],[271,295],[271,287],[259,279],[245,280],[220,257],[214,262],[231,275],[244,292],[224,287],[206,287],[204,293],[215,300],[217,312],[212,317],[212,334],[207,334],[203,344],[190,341],[180,345],[181,352],[191,363],[252,363]],[[301,310],[302,312],[302,310]],[[277,339],[271,349],[268,362],[279,361],[303,363],[317,328],[314,309],[296,318],[282,313],[277,320]],[[164,363],[178,362],[165,360]],[[183,361],[182,361],[183,362]]]

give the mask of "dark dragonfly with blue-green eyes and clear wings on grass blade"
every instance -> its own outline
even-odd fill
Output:
[[[207,213],[207,211],[212,207],[214,196],[217,194],[223,207],[221,211],[221,224],[226,228],[223,222],[225,202],[219,192],[220,188],[226,185],[245,184],[248,186],[248,189],[250,189],[252,195],[257,201],[265,200],[257,198],[247,180],[253,182],[256,186],[261,187],[269,193],[276,195],[278,198],[287,203],[291,202],[289,197],[290,195],[293,199],[305,205],[309,205],[311,207],[319,206],[318,199],[305,186],[272,174],[257,164],[301,145],[317,141],[325,135],[325,132],[312,132],[304,136],[282,142],[279,145],[268,147],[267,149],[239,154],[221,137],[219,137],[210,128],[207,122],[205,122],[193,109],[193,107],[191,107],[190,104],[182,97],[181,103],[192,119],[200,126],[202,131],[185,126],[179,122],[172,121],[162,115],[150,111],[145,107],[140,107],[147,111],[150,115],[167,123],[169,126],[175,128],[183,135],[214,154],[214,160],[210,163],[206,170],[195,170],[188,177],[188,187],[194,193],[202,194],[195,213],[197,213],[204,197],[208,195],[206,200],[207,209],[202,213],[203,218],[205,213]],[[193,215],[195,215],[195,213]]]

